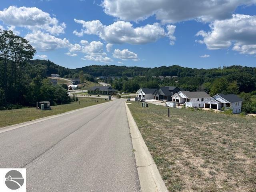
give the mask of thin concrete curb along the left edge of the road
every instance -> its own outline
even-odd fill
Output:
[[[17,129],[17,128],[21,128],[21,127],[24,127],[24,126],[32,125],[32,124],[39,123],[39,122],[49,120],[49,119],[52,119],[52,118],[60,117],[60,116],[63,116],[63,115],[71,114],[71,113],[83,110],[84,108],[90,108],[90,107],[93,107],[93,106],[98,106],[98,105],[102,105],[102,104],[106,104],[106,103],[108,103],[108,102],[100,103],[100,104],[96,104],[96,105],[91,105],[91,106],[75,109],[75,110],[72,110],[72,111],[60,113],[60,114],[57,114],[57,115],[47,116],[47,117],[43,117],[43,118],[40,118],[40,119],[35,119],[35,120],[32,120],[32,121],[27,121],[27,122],[15,124],[15,125],[10,125],[10,126],[7,126],[7,127],[2,127],[2,128],[0,128],[0,133],[10,131],[10,130],[14,130],[14,129]]]

